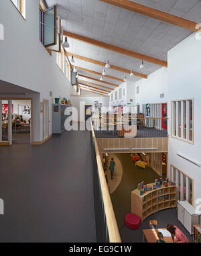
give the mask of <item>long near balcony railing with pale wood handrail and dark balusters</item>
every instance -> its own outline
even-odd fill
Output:
[[[96,136],[92,127],[91,133],[93,180],[94,180],[94,208],[96,216],[96,241],[98,243],[121,243],[117,220],[107,187],[103,164],[100,159]]]

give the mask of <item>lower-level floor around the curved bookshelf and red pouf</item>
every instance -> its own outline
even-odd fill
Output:
[[[159,228],[165,228],[169,223],[178,226],[178,228],[186,234],[189,241],[192,242],[192,236],[190,236],[186,228],[178,222],[176,208],[162,210],[150,215],[141,223],[140,228],[137,230],[132,230],[125,225],[125,214],[131,212],[131,191],[137,188],[137,183],[141,181],[151,183],[158,176],[149,167],[141,169],[141,167],[135,166],[129,154],[117,154],[117,157],[121,160],[121,164],[123,165],[123,177],[119,187],[111,194],[111,199],[122,242],[143,243],[142,230],[149,228],[149,220],[157,220]]]

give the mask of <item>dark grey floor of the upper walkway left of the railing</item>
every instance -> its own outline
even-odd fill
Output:
[[[0,242],[95,242],[90,132],[0,147]]]

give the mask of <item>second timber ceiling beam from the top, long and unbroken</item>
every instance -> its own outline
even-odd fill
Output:
[[[167,62],[164,61],[164,60],[159,60],[158,58],[153,58],[153,57],[147,56],[145,54],[141,54],[141,53],[138,53],[138,52],[133,52],[132,50],[127,50],[127,49],[124,49],[124,48],[121,48],[121,47],[118,47],[118,46],[114,46],[112,44],[107,44],[105,42],[100,42],[100,41],[94,40],[92,38],[86,38],[85,36],[80,36],[78,34],[74,34],[74,33],[67,32],[67,31],[64,31],[64,36],[68,36],[69,38],[74,38],[74,39],[79,40],[81,42],[92,44],[94,46],[105,48],[107,50],[112,50],[114,52],[119,52],[121,54],[125,54],[125,55],[128,55],[128,56],[133,57],[133,58],[138,58],[139,60],[145,60],[145,61],[154,63],[154,64],[162,66],[162,67],[167,67]]]

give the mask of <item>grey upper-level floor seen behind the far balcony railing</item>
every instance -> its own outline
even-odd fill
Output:
[[[96,130],[96,138],[119,138],[117,130]],[[167,130],[155,128],[137,128],[138,138],[160,138],[167,137]]]

